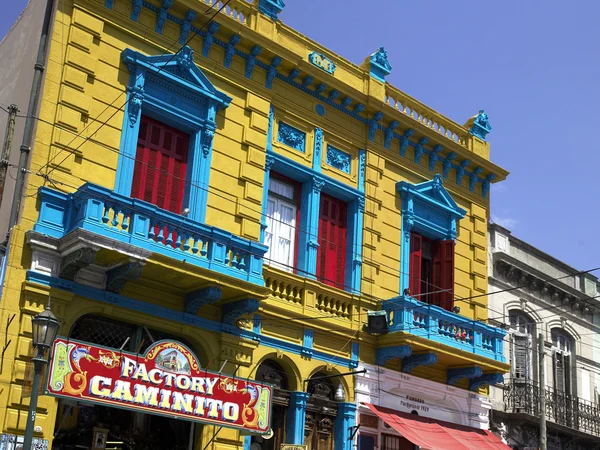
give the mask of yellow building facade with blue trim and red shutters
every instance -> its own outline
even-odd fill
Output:
[[[175,340],[272,384],[273,436],[44,396],[42,447],[90,446],[95,427],[119,448],[349,450],[357,407],[377,421],[375,391],[402,395],[402,377],[459,398],[433,419],[487,428],[509,369],[485,323],[490,184],[507,173],[483,111],[441,116],[385,82],[383,48],[354,65],[282,24],[278,0],[232,0],[207,25],[221,3],[55,3],[3,280],[3,439],[25,428],[49,297],[65,338],[136,355]],[[387,334],[366,332],[378,310]],[[359,361],[392,383],[361,405]]]

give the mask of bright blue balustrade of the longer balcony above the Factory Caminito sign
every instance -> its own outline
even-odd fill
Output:
[[[137,199],[86,183],[72,194],[39,190],[34,231],[61,238],[82,229],[187,264],[264,286],[267,247]]]

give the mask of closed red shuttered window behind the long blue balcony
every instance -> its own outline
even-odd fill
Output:
[[[187,134],[142,116],[131,196],[180,214],[188,147]]]

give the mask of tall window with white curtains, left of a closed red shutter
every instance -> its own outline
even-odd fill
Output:
[[[295,267],[299,190],[293,182],[273,176],[269,178],[265,230],[265,244],[269,250],[265,258],[267,264],[288,272]]]

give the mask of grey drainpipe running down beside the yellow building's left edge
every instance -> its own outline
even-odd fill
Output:
[[[31,151],[31,142],[33,140],[33,126],[35,123],[34,117],[37,112],[40,99],[40,90],[42,88],[42,74],[44,73],[45,69],[44,63],[46,62],[46,52],[48,49],[48,31],[50,29],[53,6],[54,0],[46,0],[46,11],[44,12],[42,34],[40,36],[40,45],[38,46],[37,59],[34,66],[33,81],[31,82],[29,105],[27,106],[27,118],[25,119],[25,127],[23,129],[23,142],[21,144],[21,155],[19,156],[15,194],[13,196],[13,202],[10,210],[10,220],[8,222],[9,233],[12,227],[14,227],[19,220],[19,209],[21,208],[21,198],[23,197],[25,173],[29,164],[29,152]]]

